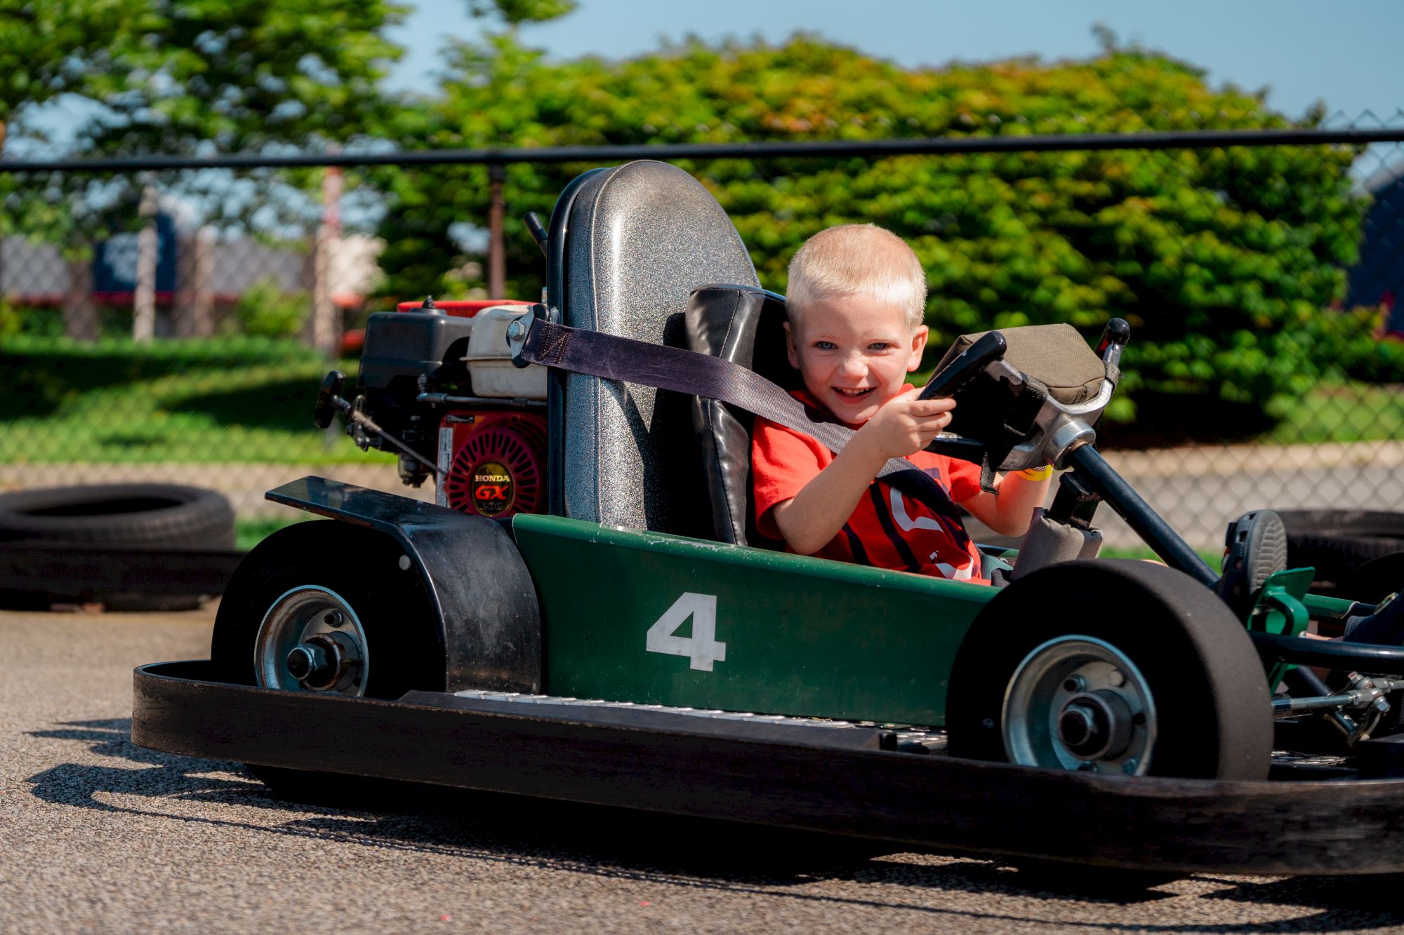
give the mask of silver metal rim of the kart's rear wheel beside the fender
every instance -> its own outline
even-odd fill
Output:
[[[341,614],[341,625],[331,626],[326,622],[330,612]],[[317,635],[338,635],[341,640],[350,640],[359,654],[359,665],[354,679],[344,687],[333,689],[313,689],[303,685],[288,671],[288,653],[300,646],[305,640]],[[270,605],[258,625],[258,636],[254,639],[254,679],[260,688],[277,688],[279,691],[322,691],[324,694],[350,695],[359,698],[365,695],[366,677],[371,671],[371,653],[365,639],[365,628],[357,616],[351,604],[330,588],[313,584],[303,584],[284,591],[277,601]]]

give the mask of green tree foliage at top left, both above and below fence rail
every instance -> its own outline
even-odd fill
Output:
[[[70,108],[84,115],[73,135],[93,156],[351,140],[392,105],[379,81],[400,49],[383,31],[403,14],[390,0],[0,0],[0,146],[59,95],[81,102]],[[0,233],[86,248],[140,223],[143,181],[3,175]],[[229,180],[208,173],[159,181],[215,212],[257,206],[250,192],[227,198]],[[309,173],[256,180],[265,191],[289,181],[314,184]]]

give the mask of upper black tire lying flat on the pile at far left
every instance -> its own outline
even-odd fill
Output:
[[[233,549],[234,511],[213,490],[88,484],[0,494],[0,542]]]

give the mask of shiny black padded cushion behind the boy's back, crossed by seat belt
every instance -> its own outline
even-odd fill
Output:
[[[800,386],[785,355],[785,299],[755,286],[713,285],[692,292],[684,313],[685,347],[747,366],[783,389]],[[755,532],[751,510],[751,428],[755,417],[715,399],[692,397],[692,428],[720,542],[778,548]]]

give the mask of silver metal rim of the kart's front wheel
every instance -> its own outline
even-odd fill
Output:
[[[1081,679],[1075,689],[1068,687],[1074,679]],[[1059,719],[1077,698],[1108,696],[1104,692],[1130,713],[1129,740],[1113,754],[1080,755],[1061,737]],[[1155,699],[1141,671],[1111,643],[1094,636],[1057,636],[1033,647],[1015,668],[1004,694],[1001,723],[1009,762],[1140,776],[1150,769],[1155,745]]]

